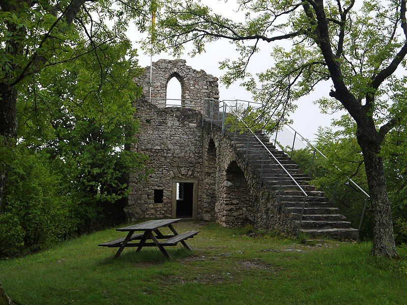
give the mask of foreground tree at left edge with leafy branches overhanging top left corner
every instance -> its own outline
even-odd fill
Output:
[[[130,18],[143,28],[149,18],[148,2],[0,0],[0,148],[17,142],[16,102],[24,88],[37,84],[35,77],[44,69],[74,63],[90,53],[96,71],[108,73],[100,56],[107,56],[109,43],[127,41]],[[1,212],[7,167],[0,166]],[[5,295],[0,285],[0,303],[8,303]]]

